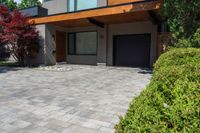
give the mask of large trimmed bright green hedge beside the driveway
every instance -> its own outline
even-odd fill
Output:
[[[200,132],[200,49],[171,49],[147,89],[120,118],[116,133]]]

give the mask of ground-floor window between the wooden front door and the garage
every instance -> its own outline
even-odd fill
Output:
[[[97,32],[69,33],[68,53],[70,55],[96,55]]]

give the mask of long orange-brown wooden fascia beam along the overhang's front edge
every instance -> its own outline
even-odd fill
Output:
[[[38,24],[54,23],[59,21],[78,20],[78,19],[85,19],[92,17],[137,12],[137,11],[156,10],[160,9],[160,7],[161,7],[161,0],[136,3],[136,4],[130,3],[114,7],[105,7],[105,8],[87,10],[75,13],[65,13],[65,14],[58,14],[40,18],[33,18],[30,20],[30,23],[38,25]]]

